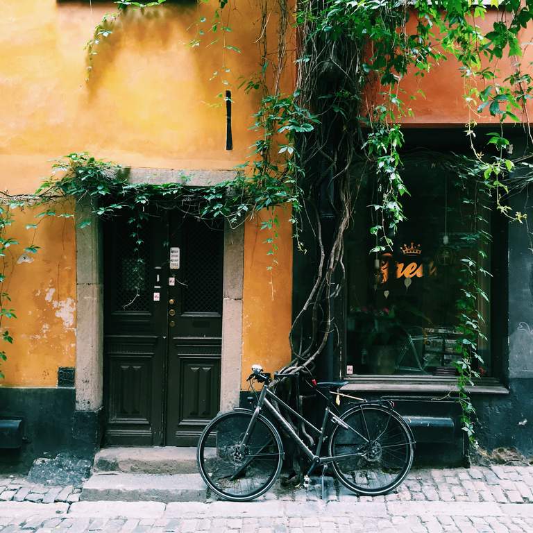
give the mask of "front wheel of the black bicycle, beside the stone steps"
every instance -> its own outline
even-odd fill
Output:
[[[242,446],[252,412],[223,413],[203,430],[196,459],[205,483],[221,498],[234,502],[253,500],[272,487],[282,465],[280,434],[259,416]]]

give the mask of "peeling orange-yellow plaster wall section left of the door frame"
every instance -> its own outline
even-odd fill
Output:
[[[69,204],[56,210],[70,212],[72,208]],[[24,253],[33,236],[26,224],[35,223],[38,212],[42,208],[16,210],[17,223],[9,229],[9,235],[20,243],[8,248],[6,269],[6,290],[17,319],[3,323],[15,342],[5,346],[8,360],[2,365],[6,379],[1,385],[56,387],[58,367],[76,364],[74,223],[64,218],[40,219],[34,243],[40,249]]]

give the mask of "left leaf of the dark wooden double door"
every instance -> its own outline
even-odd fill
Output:
[[[105,443],[113,446],[160,446],[164,439],[164,221],[151,219],[140,231],[137,239],[128,217],[104,227]]]

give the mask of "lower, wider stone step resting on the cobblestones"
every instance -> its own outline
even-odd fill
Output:
[[[83,501],[205,502],[200,474],[95,473],[81,491]]]

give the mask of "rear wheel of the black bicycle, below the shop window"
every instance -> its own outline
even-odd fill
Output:
[[[366,496],[386,494],[398,487],[409,472],[414,442],[403,418],[380,405],[350,409],[336,425],[330,455],[345,455],[332,463],[339,481]]]

